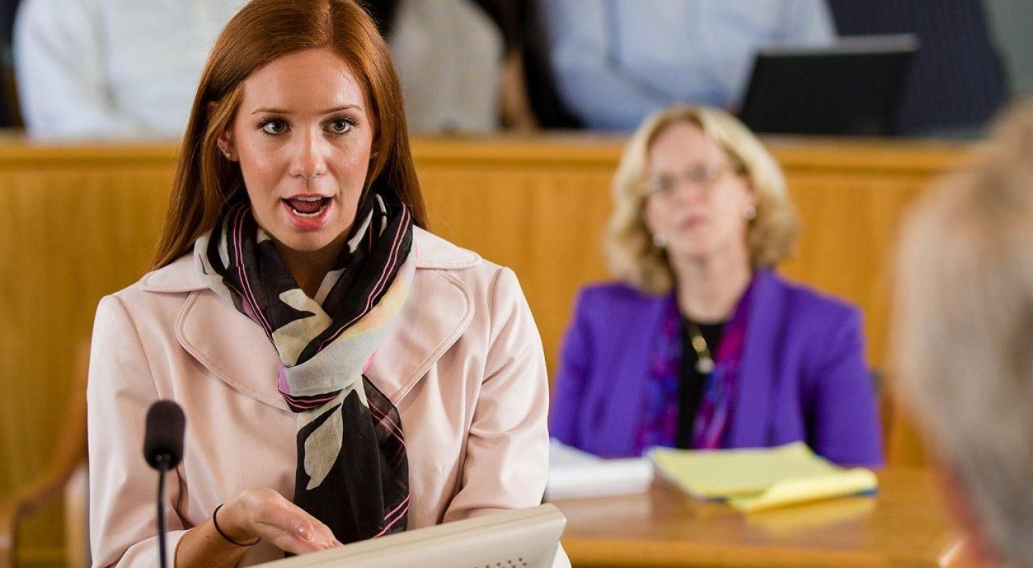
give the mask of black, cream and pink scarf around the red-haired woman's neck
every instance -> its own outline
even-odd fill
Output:
[[[249,203],[230,206],[194,243],[201,279],[261,326],[280,356],[279,390],[298,416],[293,502],[341,542],[404,531],[409,463],[398,410],[364,375],[405,303],[412,216],[379,195],[315,298],[298,286]]]

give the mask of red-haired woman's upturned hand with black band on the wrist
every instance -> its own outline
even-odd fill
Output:
[[[261,537],[295,555],[341,545],[330,528],[270,488],[245,490],[218,514],[219,528],[238,542]]]

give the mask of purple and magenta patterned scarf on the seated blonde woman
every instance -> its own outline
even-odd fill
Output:
[[[739,389],[752,291],[751,281],[721,334],[714,357],[714,371],[707,379],[703,397],[696,409],[692,449],[715,449],[726,444]],[[650,354],[644,419],[639,422],[636,437],[636,449],[639,451],[653,446],[672,447],[678,436],[678,421],[682,418],[678,405],[681,387],[678,373],[683,343],[681,317],[678,301],[671,294],[666,301],[660,333]]]

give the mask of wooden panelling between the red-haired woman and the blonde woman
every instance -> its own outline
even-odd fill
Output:
[[[577,288],[606,278],[599,251],[609,211],[609,172],[556,168],[496,178],[434,167],[424,171],[432,228],[516,273],[550,369],[555,369]]]

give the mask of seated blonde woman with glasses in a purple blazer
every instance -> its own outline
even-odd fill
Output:
[[[675,106],[625,149],[605,243],[617,283],[577,298],[551,433],[605,456],[803,440],[879,465],[860,315],[786,282],[795,218],[760,141],[727,113]]]

